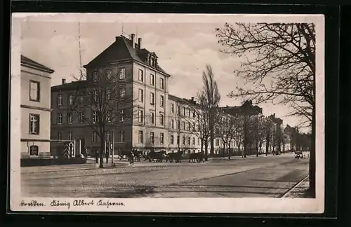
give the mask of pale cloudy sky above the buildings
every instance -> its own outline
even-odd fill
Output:
[[[82,65],[88,64],[110,46],[123,29],[126,36],[133,33],[136,38],[142,38],[142,48],[157,54],[160,67],[171,74],[168,81],[170,94],[182,98],[196,96],[202,88],[202,72],[206,64],[211,64],[221,95],[220,105],[237,106],[243,102],[241,98],[227,97],[244,81],[234,75],[241,60],[220,53],[223,46],[217,42],[215,29],[223,27],[225,22],[96,21],[90,17],[80,23]],[[55,70],[51,85],[62,83],[62,78],[66,78],[67,82],[73,81],[73,76],[79,74],[78,20],[65,20],[63,15],[26,17],[22,22],[21,38],[22,55]],[[282,118],[284,125],[294,126],[303,121],[295,116],[286,116],[293,111],[286,105],[267,103],[260,104],[260,107],[265,116],[275,113]]]

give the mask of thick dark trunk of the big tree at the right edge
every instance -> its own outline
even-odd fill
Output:
[[[315,110],[312,109],[312,135],[311,135],[311,150],[310,150],[310,193],[312,198],[316,197],[316,118]]]

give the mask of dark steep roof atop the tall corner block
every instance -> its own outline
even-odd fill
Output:
[[[117,36],[116,41],[112,43],[108,48],[102,51],[100,55],[95,57],[91,62],[84,65],[84,67],[95,67],[100,64],[105,64],[109,62],[116,62],[119,60],[135,60],[146,64],[146,59],[140,58],[140,54],[151,53],[149,50],[143,48],[138,49],[138,45],[135,43],[133,48],[133,42],[131,39],[126,38],[125,36]],[[164,69],[159,67],[157,64],[157,70],[161,71],[164,74],[167,74]],[[168,74],[167,74],[168,75]]]

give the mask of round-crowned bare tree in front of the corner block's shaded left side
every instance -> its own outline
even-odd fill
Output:
[[[100,139],[100,167],[103,167],[106,132],[125,123],[135,116],[133,96],[127,94],[126,82],[119,73],[98,69],[93,78],[86,78],[81,72],[77,81],[72,82],[74,93],[69,95],[68,113],[77,116],[80,123],[86,123]]]

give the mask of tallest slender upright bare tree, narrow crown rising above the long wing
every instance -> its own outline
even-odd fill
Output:
[[[211,65],[206,65],[206,71],[202,73],[202,81],[204,82],[204,93],[206,94],[206,102],[208,104],[209,111],[209,126],[210,126],[210,142],[211,142],[211,155],[214,151],[214,126],[216,124],[216,114],[218,110],[218,104],[220,102],[220,93],[218,91],[217,82],[214,79]],[[206,155],[207,157],[207,155]]]

